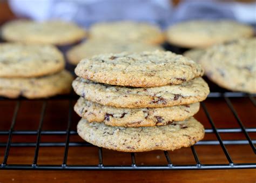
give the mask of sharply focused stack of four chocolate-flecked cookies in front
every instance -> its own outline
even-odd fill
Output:
[[[200,65],[170,51],[83,59],[73,89],[80,96],[77,131],[112,150],[176,150],[204,138],[192,116],[208,93]]]

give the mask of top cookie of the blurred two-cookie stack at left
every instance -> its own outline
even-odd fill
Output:
[[[63,70],[62,53],[52,45],[1,43],[0,77],[38,77]]]

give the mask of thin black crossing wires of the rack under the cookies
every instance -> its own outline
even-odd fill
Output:
[[[237,123],[239,124],[240,128],[216,128],[215,124],[212,120],[210,112],[208,112],[206,105],[204,102],[201,102],[201,106],[207,116],[209,123],[211,124],[212,128],[205,129],[205,133],[214,133],[217,137],[217,140],[202,140],[199,141],[196,145],[220,145],[225,157],[228,161],[228,164],[201,164],[199,157],[197,155],[197,151],[194,146],[191,146],[191,151],[196,161],[196,164],[193,165],[174,165],[172,164],[171,158],[167,151],[163,151],[166,164],[165,165],[137,165],[136,158],[134,153],[131,154],[131,164],[130,165],[104,165],[103,162],[103,152],[102,148],[98,147],[98,164],[97,165],[67,165],[68,159],[68,151],[70,146],[93,146],[92,144],[84,142],[70,142],[70,135],[77,135],[76,131],[71,130],[71,116],[72,116],[72,101],[75,100],[73,94],[71,96],[62,96],[60,98],[69,100],[69,115],[68,115],[68,127],[65,131],[43,131],[42,125],[45,116],[45,109],[48,103],[47,99],[43,100],[43,105],[41,109],[41,117],[39,120],[39,126],[37,131],[14,131],[14,127],[16,124],[17,113],[21,104],[21,100],[26,100],[24,98],[18,99],[16,102],[14,115],[12,116],[11,127],[9,131],[0,131],[0,135],[9,135],[8,140],[6,143],[0,143],[0,147],[6,147],[4,158],[2,164],[0,166],[0,170],[209,170],[209,169],[233,169],[233,168],[256,168],[256,163],[242,163],[242,164],[234,164],[231,155],[228,153],[227,148],[225,145],[240,145],[240,144],[249,144],[256,154],[256,149],[254,144],[256,144],[256,140],[252,140],[248,135],[248,132],[256,132],[256,127],[253,128],[246,128],[242,123],[241,119],[239,118],[237,112],[235,111],[230,98],[232,97],[246,97],[249,98],[251,103],[256,106],[256,101],[254,99],[255,95],[240,93],[240,92],[211,92],[208,98],[224,98],[226,101],[227,106],[233,113]],[[59,98],[59,97],[57,97]],[[1,98],[0,98],[1,99]],[[11,100],[11,99],[4,99],[3,100]],[[219,133],[244,133],[246,140],[222,140]],[[12,135],[19,134],[19,135],[37,135],[36,143],[12,143]],[[66,135],[66,140],[64,143],[42,143],[41,142],[41,135],[48,134],[48,135]],[[8,156],[10,147],[35,147],[35,153],[33,157],[32,164],[29,165],[17,165],[17,164],[8,164]],[[38,152],[39,147],[56,147],[56,146],[64,146],[64,154],[63,161],[61,165],[38,165]]]

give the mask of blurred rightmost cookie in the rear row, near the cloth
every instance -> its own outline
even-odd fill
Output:
[[[167,29],[169,43],[183,48],[205,48],[233,39],[253,36],[253,28],[231,20],[181,22]]]

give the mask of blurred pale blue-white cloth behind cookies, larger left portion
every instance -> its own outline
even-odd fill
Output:
[[[58,18],[84,26],[122,19],[164,24],[172,12],[169,0],[10,0],[9,4],[18,16],[37,21]]]

